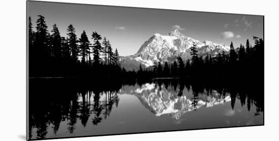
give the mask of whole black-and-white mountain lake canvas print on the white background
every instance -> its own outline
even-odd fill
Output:
[[[263,15],[26,6],[27,140],[265,123]]]

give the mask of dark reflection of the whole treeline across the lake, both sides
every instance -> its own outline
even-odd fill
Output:
[[[32,79],[29,82],[32,87],[29,89],[28,138],[34,138],[35,134],[38,139],[46,138],[47,134],[56,135],[59,128],[66,128],[69,133],[73,133],[78,122],[81,122],[84,127],[96,126],[110,116],[113,108],[118,107],[121,101],[118,95],[122,87],[129,85],[137,89],[138,86],[141,87],[146,83],[155,83],[160,91],[163,87],[167,90],[172,89],[169,92],[173,92],[174,89],[176,93],[173,94],[177,96],[184,95],[184,90],[191,90],[194,108],[199,99],[208,95],[216,98],[230,95],[232,109],[234,109],[236,99],[239,99],[241,107],[246,105],[248,111],[252,105],[255,105],[255,116],[264,111],[263,96],[258,94],[264,91],[256,81],[244,80],[235,84],[234,81],[227,79],[209,82],[208,80],[197,81],[194,78],[187,81],[185,79],[157,79],[146,82]],[[216,95],[216,92],[219,95]],[[66,122],[66,125],[61,125],[61,122]],[[52,128],[52,133],[48,133],[49,128]]]

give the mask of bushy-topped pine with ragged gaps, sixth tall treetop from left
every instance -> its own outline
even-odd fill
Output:
[[[94,64],[99,64],[100,62],[100,52],[102,51],[101,44],[99,40],[101,40],[101,36],[95,31],[92,32],[92,39],[94,40],[93,44],[93,61]]]

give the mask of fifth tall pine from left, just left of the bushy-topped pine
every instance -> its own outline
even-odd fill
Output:
[[[81,33],[81,38],[79,39],[80,42],[80,53],[79,56],[82,57],[82,63],[85,63],[85,57],[90,56],[90,42],[88,40],[88,37],[86,35],[86,32],[83,30]]]

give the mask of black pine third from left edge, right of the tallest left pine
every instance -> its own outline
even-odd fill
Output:
[[[51,30],[51,44],[52,44],[52,51],[53,56],[56,59],[61,59],[62,57],[62,48],[61,48],[61,36],[56,24],[53,25],[53,29]]]

